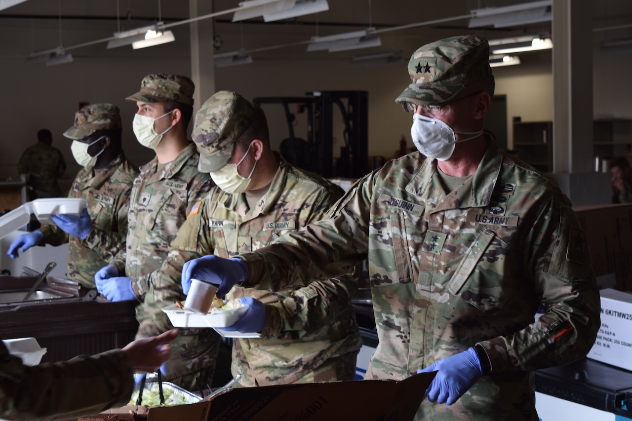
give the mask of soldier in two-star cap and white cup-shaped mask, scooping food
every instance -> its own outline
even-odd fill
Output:
[[[309,284],[368,257],[379,335],[368,379],[438,370],[419,391],[419,420],[537,421],[533,370],[585,356],[600,326],[586,237],[556,183],[483,134],[486,39],[423,46],[408,71],[396,102],[415,113],[425,156],[363,177],[330,219],[236,261],[193,260],[190,272],[221,276],[222,294],[236,282]]]

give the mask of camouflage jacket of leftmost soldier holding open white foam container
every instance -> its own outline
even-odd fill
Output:
[[[94,288],[94,274],[125,247],[131,183],[138,169],[121,152],[103,171],[82,168],[73,181],[68,197],[88,200],[92,228],[81,240],[56,225],[40,228],[46,244],[68,244],[68,279]]]

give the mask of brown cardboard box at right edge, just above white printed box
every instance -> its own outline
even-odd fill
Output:
[[[632,204],[573,207],[599,288],[632,291]]]

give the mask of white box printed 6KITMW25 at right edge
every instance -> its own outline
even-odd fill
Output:
[[[632,370],[632,293],[601,290],[601,327],[586,357]]]

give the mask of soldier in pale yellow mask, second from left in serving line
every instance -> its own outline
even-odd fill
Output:
[[[209,174],[198,171],[199,154],[186,135],[193,115],[193,90],[193,82],[185,76],[154,74],[143,78],[140,92],[126,98],[138,106],[133,122],[138,142],[154,149],[156,156],[134,180],[126,247],[95,275],[97,288],[111,301],[145,301],[150,275],[160,269],[169,243],[193,204],[206,197],[212,186]],[[204,329],[198,334],[198,330],[180,331],[172,345],[176,358],[190,355],[191,341],[205,344],[201,354],[216,355],[214,332]],[[139,331],[138,336],[146,335]],[[215,358],[202,355],[200,360],[202,365],[195,370],[172,365],[166,378],[197,390],[199,370],[204,370],[200,377],[205,385],[212,379],[209,367],[215,365]]]

